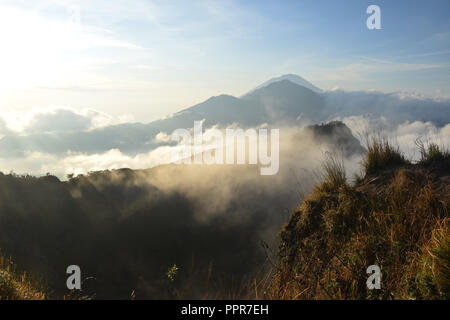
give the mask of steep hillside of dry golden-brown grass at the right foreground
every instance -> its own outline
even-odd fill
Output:
[[[419,147],[422,160],[411,164],[371,141],[354,185],[328,159],[324,181],[281,231],[271,298],[450,298],[450,156]],[[381,290],[366,286],[374,264]]]

